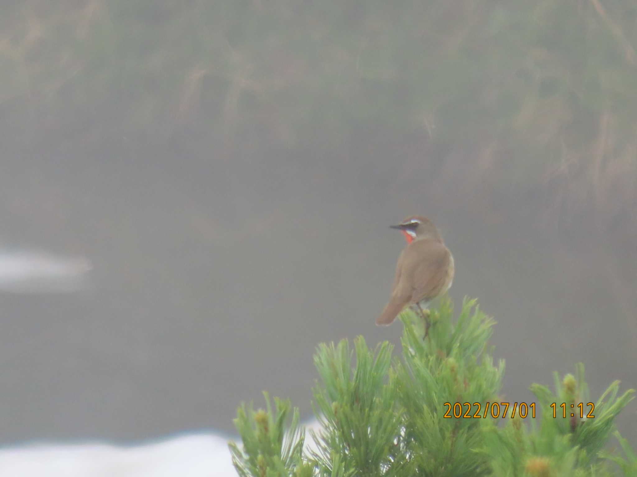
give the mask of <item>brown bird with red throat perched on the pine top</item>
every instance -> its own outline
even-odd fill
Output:
[[[410,216],[399,225],[407,240],[398,263],[389,303],[376,319],[378,325],[389,325],[409,305],[425,320],[425,337],[429,333],[429,302],[445,293],[454,280],[454,257],[442,241],[433,223],[421,216]]]

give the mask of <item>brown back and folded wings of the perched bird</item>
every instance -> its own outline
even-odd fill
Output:
[[[405,259],[409,264],[408,270],[403,270],[410,278],[410,301],[431,300],[441,293],[447,283],[450,252],[437,240],[419,240],[410,247],[411,250],[407,251],[410,256]]]

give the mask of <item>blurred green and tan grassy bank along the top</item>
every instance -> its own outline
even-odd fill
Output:
[[[0,121],[217,154],[415,135],[423,160],[612,217],[637,204],[636,24],[630,0],[13,1]]]

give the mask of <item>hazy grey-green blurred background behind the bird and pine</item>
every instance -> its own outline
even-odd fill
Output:
[[[496,319],[503,400],[579,361],[637,386],[634,3],[2,10],[0,244],[90,271],[0,294],[0,444],[233,432],[262,390],[310,417],[317,343],[399,344],[410,214]]]

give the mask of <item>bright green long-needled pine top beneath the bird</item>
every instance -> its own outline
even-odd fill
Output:
[[[234,420],[243,446],[229,446],[239,475],[634,476],[636,454],[617,432],[622,450],[603,451],[634,390],[620,395],[614,382],[593,401],[578,364],[575,375],[554,373],[554,392],[531,386],[536,402],[526,408],[505,404],[504,361],[494,366],[487,345],[494,321],[475,305],[465,300],[454,325],[443,300],[426,340],[415,331],[422,319],[403,312],[403,350],[393,363],[389,342],[375,350],[362,336],[354,350],[346,340],[319,345],[314,448],[303,451],[298,411],[287,424],[289,401],[275,399],[273,410],[266,394],[266,410],[241,404]]]

